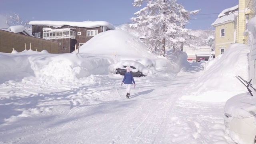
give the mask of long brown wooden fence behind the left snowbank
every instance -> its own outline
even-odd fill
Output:
[[[17,52],[22,52],[25,50],[25,44],[26,50],[29,50],[31,46],[31,50],[34,51],[47,50],[51,54],[58,54],[58,42],[0,30],[0,52],[11,53],[12,48]]]

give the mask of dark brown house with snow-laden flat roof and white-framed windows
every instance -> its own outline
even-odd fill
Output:
[[[70,53],[101,32],[114,30],[115,27],[104,21],[66,22],[31,21],[32,35],[37,38],[60,43],[58,53]]]

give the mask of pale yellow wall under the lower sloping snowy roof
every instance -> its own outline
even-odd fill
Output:
[[[220,30],[225,28],[225,36],[220,36]],[[230,22],[216,26],[215,28],[215,57],[220,55],[220,47],[225,46],[225,50],[234,43],[234,23]],[[224,50],[224,51],[225,51]]]

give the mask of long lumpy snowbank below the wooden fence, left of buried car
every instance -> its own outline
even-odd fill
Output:
[[[21,81],[30,77],[48,83],[82,82],[94,75],[107,75],[113,71],[111,57],[98,57],[94,54],[48,54],[47,51],[25,50],[12,54],[0,53],[2,62],[0,83]],[[22,64],[20,64],[22,62]]]

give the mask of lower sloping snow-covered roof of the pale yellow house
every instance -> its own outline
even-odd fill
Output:
[[[229,15],[224,15],[220,18],[217,18],[217,20],[215,20],[214,23],[212,23],[212,26],[218,26],[221,24],[226,24],[229,22],[234,22],[234,20],[236,19],[236,16],[238,15],[238,11],[232,12],[232,14]]]

